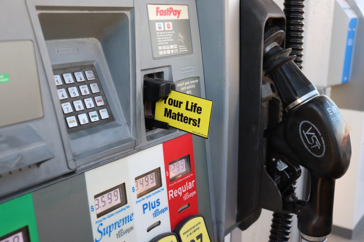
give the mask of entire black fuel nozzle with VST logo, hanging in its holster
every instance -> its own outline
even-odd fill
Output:
[[[284,32],[265,33],[264,71],[272,79],[287,111],[274,127],[271,149],[311,173],[309,200],[297,204],[298,229],[306,241],[325,241],[331,233],[335,179],[347,171],[351,158],[348,127],[335,103],[319,95],[290,56],[282,49]]]

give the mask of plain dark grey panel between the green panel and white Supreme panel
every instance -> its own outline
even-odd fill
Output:
[[[39,241],[93,241],[84,173],[32,196]]]

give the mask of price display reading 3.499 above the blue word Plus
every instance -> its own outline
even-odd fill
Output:
[[[160,167],[141,176],[135,177],[135,190],[137,191],[137,198],[144,196],[145,194],[150,193],[161,186],[162,178]]]

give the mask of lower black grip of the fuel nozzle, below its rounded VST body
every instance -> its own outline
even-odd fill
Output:
[[[298,213],[298,229],[302,234],[324,237],[331,233],[335,180],[311,174],[308,202]]]

